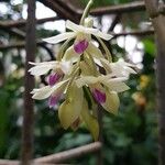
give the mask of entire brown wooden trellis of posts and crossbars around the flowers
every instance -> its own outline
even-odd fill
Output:
[[[44,42],[35,38],[35,24],[44,23],[47,21],[55,21],[59,19],[69,19],[75,22],[78,22],[80,15],[82,13],[81,10],[77,10],[73,6],[67,6],[64,1],[61,0],[40,0],[42,3],[57,12],[58,16],[47,18],[35,20],[35,1],[28,0],[29,6],[29,16],[28,20],[24,21],[0,21],[0,29],[9,32],[10,34],[16,35],[20,38],[25,38],[24,41],[18,43],[10,43],[8,45],[0,45],[0,50],[8,50],[14,47],[24,47],[26,48],[26,63],[25,63],[25,96],[24,96],[24,122],[22,129],[22,154],[21,154],[21,164],[30,165],[32,164],[31,160],[33,160],[33,100],[31,99],[30,91],[34,87],[33,78],[28,74],[29,61],[34,61],[35,47],[41,46],[47,51],[51,58],[53,58],[52,51],[45,45]],[[155,32],[156,43],[157,43],[157,66],[156,66],[156,76],[157,76],[157,111],[158,111],[158,128],[160,128],[160,154],[158,154],[158,163],[160,165],[165,165],[165,8],[164,2],[158,0],[144,0],[136,1],[127,4],[120,4],[114,7],[106,7],[98,8],[91,10],[90,14],[100,16],[103,14],[116,14],[110,31],[112,31],[116,24],[119,22],[119,15],[128,12],[135,11],[146,11],[148,12],[150,18],[153,22],[153,28],[146,31],[135,31],[135,32],[122,32],[119,34],[114,34],[113,38],[118,36],[125,35],[152,35]],[[76,15],[76,16],[75,16]],[[21,26],[25,26],[26,24],[26,33],[19,30]],[[99,114],[100,117],[100,114]],[[101,129],[101,118],[100,120],[100,129]],[[87,153],[97,153],[98,165],[102,164],[101,156],[101,138],[100,142],[95,142],[91,144],[87,144],[85,146],[80,146],[77,148],[73,148],[69,151],[65,151],[62,153],[44,156],[41,158],[33,160],[33,164],[40,165],[52,165],[55,163],[61,163],[63,161],[67,161],[69,158],[78,157],[85,155]],[[9,161],[9,160],[0,160],[0,165],[18,165],[19,161]]]

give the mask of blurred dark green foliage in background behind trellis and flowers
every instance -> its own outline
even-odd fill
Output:
[[[102,0],[95,6],[123,3],[130,0]],[[86,2],[86,1],[82,1]],[[19,4],[20,6],[20,4]],[[21,9],[10,6],[12,12]],[[21,16],[21,14],[20,14]],[[7,13],[3,19],[11,19]],[[129,15],[128,15],[129,18]],[[128,19],[129,20],[129,19]],[[131,21],[131,19],[130,19]],[[132,22],[128,24],[132,28]],[[127,24],[124,24],[125,26]],[[37,30],[37,36],[58,32]],[[15,40],[3,31],[1,36]],[[141,40],[141,38],[139,38]],[[103,164],[105,165],[155,165],[157,164],[157,120],[155,111],[155,44],[153,37],[141,40],[143,44],[143,68],[128,81],[131,89],[120,96],[119,116],[103,112]],[[117,43],[111,44],[113,57],[124,57],[125,51]],[[37,50],[37,58],[43,52]],[[23,111],[24,51],[10,50],[0,53],[0,158],[19,158]],[[57,118],[57,110],[50,110],[47,102],[35,102],[34,128],[35,157],[57,153],[92,142],[85,125],[77,132],[64,131]],[[73,164],[95,165],[97,155],[88,154],[69,161]]]

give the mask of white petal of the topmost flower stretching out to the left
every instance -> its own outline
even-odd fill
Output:
[[[75,37],[75,36],[76,36],[75,32],[66,32],[66,33],[62,33],[62,34],[58,34],[58,35],[55,35],[52,37],[43,38],[43,41],[45,41],[50,44],[57,44],[59,42],[63,42],[67,38]]]

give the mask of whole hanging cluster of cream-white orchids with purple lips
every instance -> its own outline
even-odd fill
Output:
[[[118,92],[129,89],[124,81],[130,74],[135,74],[134,65],[124,61],[112,63],[111,54],[102,41],[109,41],[112,36],[94,29],[92,19],[85,19],[81,25],[66,21],[66,28],[72,32],[44,40],[51,44],[66,40],[58,52],[57,61],[31,63],[34,65],[29,70],[32,75],[48,74],[48,85],[33,89],[32,98],[48,98],[51,108],[63,98],[64,102],[58,109],[62,127],[76,130],[85,122],[97,140],[99,125],[96,107],[99,103],[108,112],[118,113]]]

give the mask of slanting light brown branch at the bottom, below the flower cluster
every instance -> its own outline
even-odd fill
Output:
[[[79,146],[76,148],[72,148],[65,152],[61,152],[57,154],[44,156],[41,158],[35,158],[35,163],[61,163],[70,158],[80,157],[82,155],[87,155],[88,153],[98,152],[101,148],[100,142],[95,142],[91,144],[87,144],[84,146]]]

